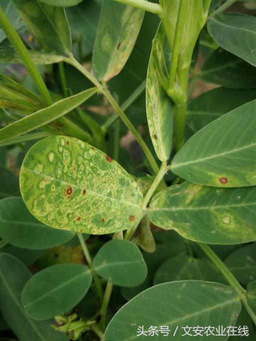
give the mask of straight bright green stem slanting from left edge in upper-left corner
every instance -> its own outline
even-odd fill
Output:
[[[19,54],[21,60],[23,61],[24,65],[26,66],[28,72],[30,73],[32,79],[34,80],[39,92],[41,93],[42,97],[45,100],[47,105],[52,104],[52,99],[50,94],[47,90],[42,77],[37,70],[33,60],[30,57],[25,45],[23,44],[22,40],[20,39],[18,33],[15,31],[14,27],[12,26],[11,22],[9,21],[8,17],[0,7],[0,18],[1,18],[1,28],[5,32],[7,38]]]

